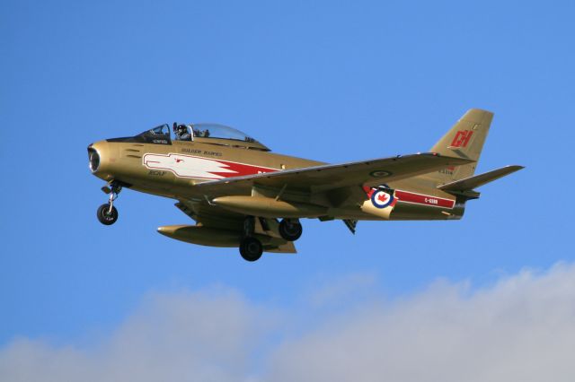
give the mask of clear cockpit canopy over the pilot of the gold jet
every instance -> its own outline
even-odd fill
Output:
[[[170,130],[173,130],[173,137]],[[174,141],[188,141],[222,144],[228,146],[245,147],[249,149],[270,151],[268,147],[259,143],[251,136],[230,126],[217,124],[179,124],[173,123],[172,129],[167,124],[156,126],[137,135],[150,143],[171,144]]]

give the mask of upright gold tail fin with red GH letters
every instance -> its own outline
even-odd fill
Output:
[[[482,109],[469,109],[456,125],[436,143],[430,152],[441,155],[473,160],[473,163],[448,167],[430,173],[428,177],[437,178],[439,183],[449,183],[473,176],[477,161],[482,153],[483,143],[491,126],[493,113]]]

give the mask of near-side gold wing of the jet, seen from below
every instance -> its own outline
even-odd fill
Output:
[[[411,178],[447,166],[472,162],[435,153],[419,153],[372,161],[328,164],[303,169],[285,169],[265,174],[226,178],[195,187],[205,195],[240,195],[252,186],[279,188],[305,193],[321,193],[344,187],[376,187],[386,182]]]

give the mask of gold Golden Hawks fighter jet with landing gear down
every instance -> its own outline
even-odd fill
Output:
[[[473,175],[493,114],[470,109],[429,152],[326,164],[270,152],[231,127],[162,125],[88,146],[90,170],[107,181],[98,220],[118,219],[123,187],[177,200],[195,225],[158,228],[163,235],[213,247],[239,247],[247,261],[262,252],[295,253],[300,219],[458,220],[475,191],[523,169]]]

